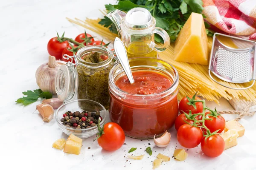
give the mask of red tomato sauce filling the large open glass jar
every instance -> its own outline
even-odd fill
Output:
[[[125,75],[119,77],[115,85],[127,94],[137,95],[120,98],[110,93],[110,119],[119,124],[127,136],[146,139],[161,135],[174,125],[178,115],[177,96],[161,97],[162,92],[172,86],[172,80],[154,71],[135,71],[132,74],[134,84]],[[150,94],[156,95],[151,97]],[[143,97],[147,95],[148,100]]]

